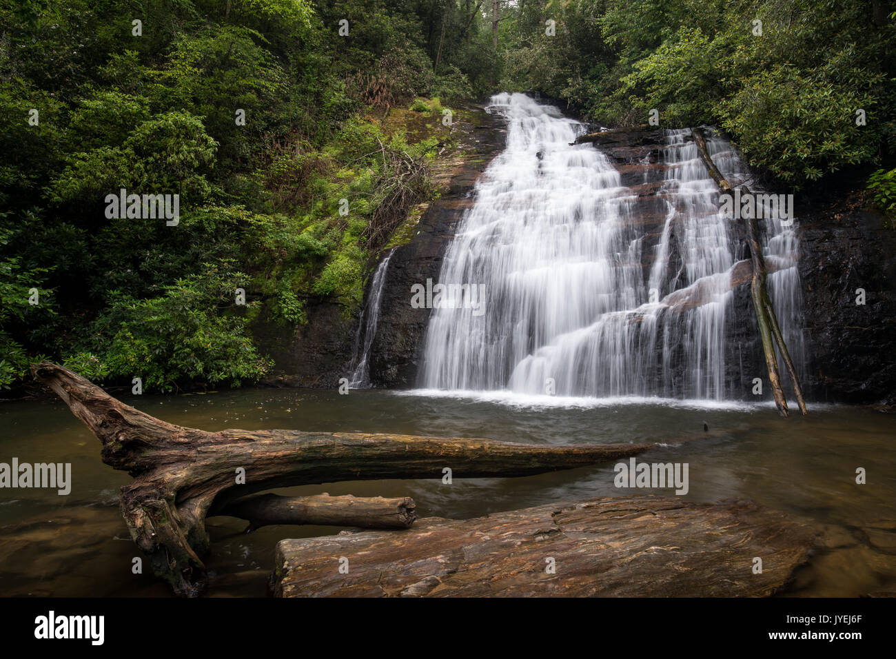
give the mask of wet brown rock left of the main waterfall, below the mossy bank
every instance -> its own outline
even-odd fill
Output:
[[[413,385],[429,309],[410,308],[410,286],[437,279],[447,241],[472,204],[473,184],[504,146],[501,117],[487,114],[482,107],[457,109],[452,125],[457,147],[432,164],[438,198],[418,204],[397,230],[400,238],[410,238],[395,250],[386,276],[383,316],[370,364],[375,386]],[[419,217],[416,226],[415,217]],[[380,256],[368,264],[371,272]],[[309,300],[306,316],[308,322],[298,327],[269,316],[254,322],[255,343],[274,361],[263,384],[334,388],[341,377],[351,376],[358,317],[347,316],[344,308],[327,300]]]

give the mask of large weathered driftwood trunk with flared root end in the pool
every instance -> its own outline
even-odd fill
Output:
[[[218,432],[176,426],[135,410],[89,380],[42,361],[31,369],[102,443],[103,462],[130,473],[120,507],[153,572],[177,594],[206,583],[206,516],[262,490],[332,481],[526,476],[637,455],[656,444],[536,446],[478,438],[425,438],[296,430]],[[231,508],[238,510],[238,506]],[[253,510],[258,515],[257,509]],[[400,533],[400,532],[396,532]]]

